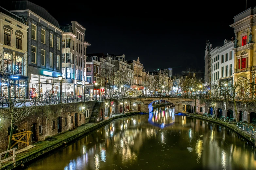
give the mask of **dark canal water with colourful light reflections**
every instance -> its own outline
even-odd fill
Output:
[[[228,128],[164,106],[114,120],[25,165],[27,170],[255,170],[255,150]]]

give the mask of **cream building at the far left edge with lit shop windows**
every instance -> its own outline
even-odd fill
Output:
[[[0,96],[8,96],[8,83],[12,82],[11,97],[25,98],[28,96],[28,26],[21,17],[2,7],[0,19],[0,62],[2,68],[5,68],[1,70],[3,76],[0,76]],[[8,75],[12,76],[9,78]]]

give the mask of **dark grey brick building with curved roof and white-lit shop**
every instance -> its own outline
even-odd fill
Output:
[[[12,11],[24,18],[27,30],[27,73],[30,97],[57,96],[61,75],[60,42],[63,31],[43,7],[29,1],[13,1]]]

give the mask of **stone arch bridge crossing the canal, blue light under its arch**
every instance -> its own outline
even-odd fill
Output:
[[[130,103],[130,108],[134,110],[140,109],[141,111],[145,112],[152,112],[153,107],[152,103],[158,100],[166,100],[175,106],[175,113],[182,113],[186,112],[185,110],[182,110],[182,105],[194,107],[195,106],[195,99],[194,98],[174,98],[174,97],[138,97],[138,98],[128,98],[127,99]],[[204,102],[200,102],[198,99],[196,99],[196,112],[200,112],[200,107],[204,108],[205,104]],[[184,108],[183,108],[184,109]],[[204,110],[202,111],[204,113]]]

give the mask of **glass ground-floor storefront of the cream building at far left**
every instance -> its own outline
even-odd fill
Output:
[[[10,79],[0,78],[0,96],[8,97],[9,89],[8,83],[10,86],[11,97],[24,98],[27,97],[26,88],[27,88],[27,79],[26,76],[12,76]]]

